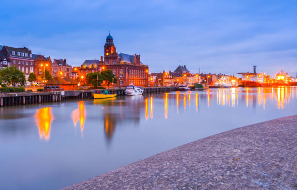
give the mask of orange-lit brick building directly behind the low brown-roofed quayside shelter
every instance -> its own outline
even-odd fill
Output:
[[[72,77],[72,67],[66,63],[66,59],[54,59],[51,73],[53,77]]]

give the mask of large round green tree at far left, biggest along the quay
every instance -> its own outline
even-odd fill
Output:
[[[25,86],[26,84],[25,74],[15,66],[1,69],[0,77],[5,85],[12,85],[15,87],[16,85]]]

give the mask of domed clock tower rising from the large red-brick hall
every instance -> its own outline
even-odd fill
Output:
[[[104,62],[106,65],[117,64],[117,52],[113,40],[113,36],[111,36],[109,33],[109,35],[106,37],[106,43],[104,45]]]

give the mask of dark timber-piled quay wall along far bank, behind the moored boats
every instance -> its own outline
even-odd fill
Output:
[[[107,89],[112,91],[112,89]],[[145,87],[144,94],[176,91],[177,87]],[[125,94],[125,88],[114,88],[117,96]],[[52,92],[16,92],[1,93],[0,106],[26,105],[26,104],[42,104],[49,102],[62,102],[70,99],[85,99],[93,97],[93,93],[97,90],[66,90]]]

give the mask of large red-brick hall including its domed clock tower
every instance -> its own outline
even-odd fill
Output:
[[[104,62],[102,67],[111,69],[115,74],[117,86],[148,86],[148,66],[140,61],[140,55],[117,53],[113,37],[109,34],[104,45]]]

